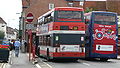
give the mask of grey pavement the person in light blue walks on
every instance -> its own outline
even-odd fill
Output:
[[[19,57],[15,57],[14,52],[12,52],[11,65],[9,66],[9,68],[37,68],[37,67],[31,62],[29,62],[26,53],[20,53]]]

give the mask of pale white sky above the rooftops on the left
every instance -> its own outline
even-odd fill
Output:
[[[19,29],[19,17],[22,12],[22,0],[0,0],[0,17],[7,26]]]

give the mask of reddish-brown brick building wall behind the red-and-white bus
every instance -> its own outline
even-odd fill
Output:
[[[22,0],[23,6],[28,6],[29,0]],[[42,14],[49,11],[49,3],[52,3],[55,5],[55,7],[68,7],[68,3],[73,3],[74,7],[80,7],[78,1],[66,1],[66,0],[30,0],[30,6],[29,8],[24,8],[23,12],[25,14],[28,14],[29,12],[33,13],[34,15],[34,21],[37,21],[37,18],[41,16]]]

